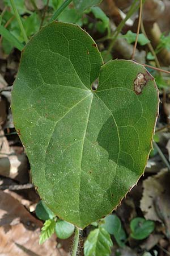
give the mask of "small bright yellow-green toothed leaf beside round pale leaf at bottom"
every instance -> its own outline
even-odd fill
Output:
[[[40,234],[40,240],[39,240],[40,245],[52,236],[52,234],[54,233],[55,225],[56,225],[56,221],[51,219],[46,220],[44,222],[44,226],[42,226],[41,228],[41,234]]]

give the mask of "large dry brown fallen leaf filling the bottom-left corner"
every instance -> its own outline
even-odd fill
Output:
[[[39,245],[42,222],[29,213],[18,200],[0,191],[1,256],[69,256],[57,249],[56,236]]]

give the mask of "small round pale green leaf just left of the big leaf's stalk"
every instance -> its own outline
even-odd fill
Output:
[[[67,221],[58,220],[56,222],[55,231],[60,239],[67,239],[74,233],[75,226]]]

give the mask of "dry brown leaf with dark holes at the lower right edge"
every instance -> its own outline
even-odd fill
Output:
[[[170,238],[170,172],[163,169],[143,181],[141,210],[147,220],[162,222]]]

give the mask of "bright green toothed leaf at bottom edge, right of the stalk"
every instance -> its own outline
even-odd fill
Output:
[[[84,243],[84,256],[109,256],[113,245],[111,236],[104,228],[90,232]]]

